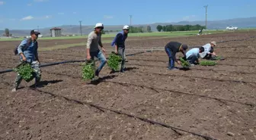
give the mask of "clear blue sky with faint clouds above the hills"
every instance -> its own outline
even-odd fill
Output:
[[[0,0],[0,30],[125,25],[255,17],[256,0]]]

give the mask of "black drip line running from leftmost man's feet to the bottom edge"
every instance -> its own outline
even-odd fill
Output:
[[[52,95],[53,97],[64,98],[67,101],[74,101],[77,104],[90,105],[91,107],[95,107],[95,108],[97,108],[97,109],[99,109],[101,111],[109,110],[109,111],[114,112],[116,114],[121,114],[121,115],[125,115],[126,117],[132,117],[132,118],[135,118],[135,119],[138,119],[138,120],[142,120],[143,122],[146,122],[146,123],[151,123],[151,124],[154,124],[154,125],[163,126],[165,128],[174,130],[174,132],[176,132],[175,130],[178,130],[178,131],[181,131],[181,132],[190,133],[192,135],[197,135],[197,136],[199,136],[201,138],[205,138],[207,140],[216,140],[216,138],[211,138],[211,137],[206,136],[206,135],[200,135],[200,134],[198,134],[196,132],[190,132],[190,131],[187,131],[187,130],[184,130],[184,129],[179,129],[179,128],[174,127],[174,126],[169,126],[168,124],[165,124],[165,123],[160,123],[158,121],[149,120],[149,119],[143,118],[143,117],[137,117],[137,116],[132,115],[132,114],[127,114],[127,113],[125,113],[125,112],[123,112],[121,110],[114,110],[114,109],[110,109],[110,108],[107,108],[107,107],[101,107],[101,106],[96,105],[96,104],[91,104],[91,103],[89,103],[87,101],[79,101],[79,100],[76,100],[76,99],[73,99],[73,98],[68,98],[68,97],[65,97],[65,96],[62,96],[62,95],[56,95],[56,94],[54,94],[52,92],[44,92],[44,91],[42,91],[40,89],[34,89],[34,88],[30,88],[30,89],[32,89],[34,91],[37,91],[37,92],[43,92],[43,93]],[[181,135],[181,133],[179,133],[179,134]]]

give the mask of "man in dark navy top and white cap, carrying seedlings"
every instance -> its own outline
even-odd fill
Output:
[[[129,33],[129,26],[125,25],[123,26],[123,31],[120,33],[117,33],[117,36],[113,39],[113,42],[111,43],[112,46],[115,46],[115,52],[116,54],[120,54],[122,56],[122,64],[121,64],[121,70],[120,72],[124,72],[124,63],[126,61],[126,55],[125,55],[125,40],[127,39]]]

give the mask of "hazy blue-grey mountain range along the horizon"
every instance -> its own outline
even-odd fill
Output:
[[[156,26],[158,25],[205,25],[205,21],[180,21],[176,23],[152,23],[152,24],[140,24],[140,25],[133,25],[133,26],[151,26],[152,31],[156,31]],[[222,30],[226,29],[226,26],[238,26],[238,28],[248,28],[248,27],[256,27],[256,17],[246,17],[246,18],[235,18],[235,19],[229,19],[229,20],[208,20],[207,21],[208,29],[210,30]],[[79,25],[62,25],[62,26],[56,26],[62,29],[62,34],[80,34],[80,26]],[[82,33],[88,34],[93,30],[94,26],[82,26]],[[104,30],[121,30],[123,25],[115,25],[115,26],[104,26]],[[50,28],[43,28],[40,29],[40,33],[43,34],[43,36],[50,36]],[[5,33],[4,30],[0,30],[0,36]],[[14,36],[28,36],[30,33],[30,30],[10,30],[10,33],[12,33]]]

